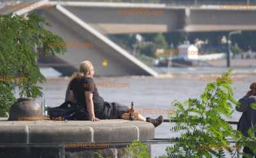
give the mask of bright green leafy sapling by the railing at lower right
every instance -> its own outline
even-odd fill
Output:
[[[175,101],[175,115],[170,121],[177,121],[172,132],[184,131],[173,138],[174,145],[168,147],[170,157],[225,157],[224,149],[232,154],[227,138],[235,133],[223,119],[231,117],[232,104],[238,104],[230,87],[231,71],[208,83],[200,99],[188,99],[184,104]]]

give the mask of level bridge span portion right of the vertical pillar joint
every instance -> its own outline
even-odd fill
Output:
[[[184,31],[255,31],[256,6],[186,8]]]

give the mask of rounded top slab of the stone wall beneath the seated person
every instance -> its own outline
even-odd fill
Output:
[[[0,143],[100,143],[154,138],[154,126],[129,120],[7,121],[0,119]]]

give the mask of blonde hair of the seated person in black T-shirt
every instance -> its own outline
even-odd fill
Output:
[[[92,62],[83,61],[80,64],[79,71],[71,76],[71,80],[73,80],[74,78],[82,78],[84,76],[88,76],[91,71],[93,71]]]

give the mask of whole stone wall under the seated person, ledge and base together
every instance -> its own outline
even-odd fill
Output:
[[[154,138],[154,126],[129,120],[8,121],[0,118],[0,157],[123,157],[127,144]],[[150,145],[148,145],[150,147]],[[60,150],[56,150],[59,149]]]

